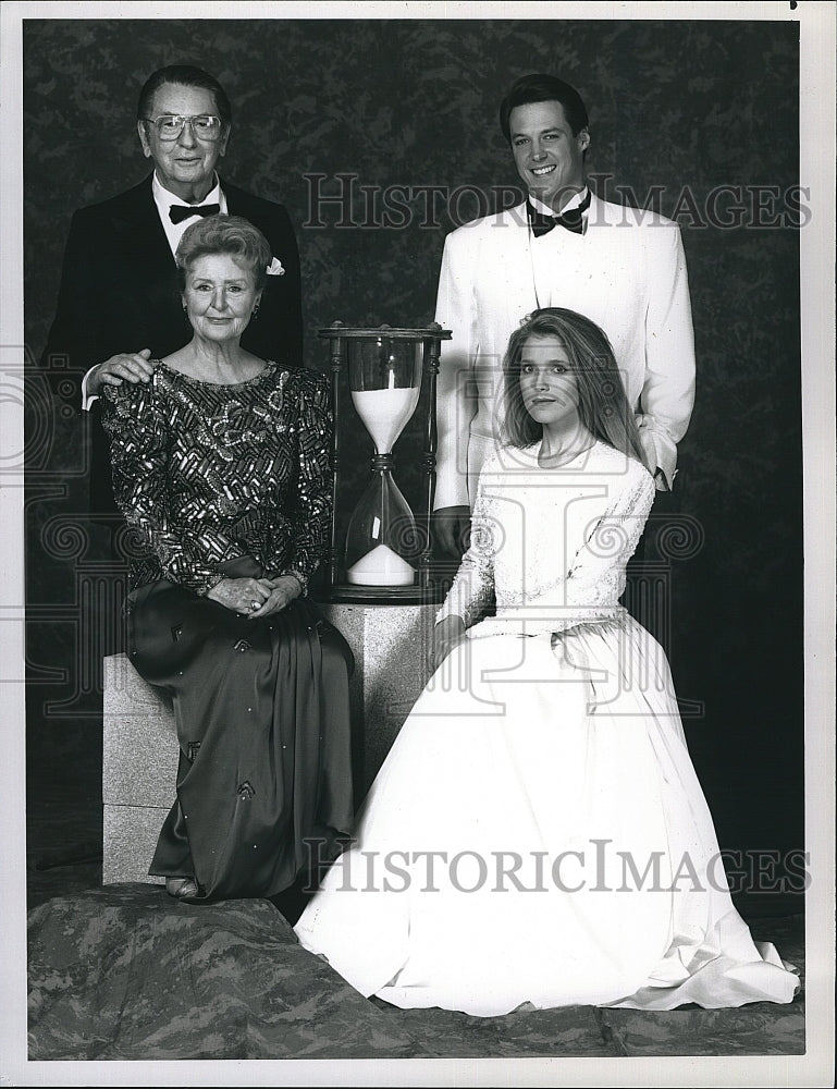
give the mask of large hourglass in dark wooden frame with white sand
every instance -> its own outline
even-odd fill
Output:
[[[344,341],[352,403],[374,446],[370,480],[349,517],[342,554],[336,541],[332,541],[332,596],[357,601],[427,600],[431,565],[430,512],[435,486],[435,378],[439,344],[450,339],[451,333],[435,325],[427,329],[389,326],[349,329],[334,322],[329,329],[320,330],[320,335],[331,340],[332,350],[335,501],[340,467],[336,379],[343,363]],[[416,411],[424,369],[430,387],[424,448],[428,507],[426,524],[420,528],[393,477],[393,448]],[[340,582],[337,568],[343,573]]]

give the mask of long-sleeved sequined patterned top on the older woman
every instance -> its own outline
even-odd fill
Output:
[[[197,594],[251,555],[303,586],[329,540],[328,381],[268,363],[220,386],[160,363],[148,383],[103,388],[113,491],[139,538],[131,587],[168,578]]]

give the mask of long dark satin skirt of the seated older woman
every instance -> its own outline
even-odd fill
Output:
[[[128,653],[172,699],[177,799],[149,873],[199,898],[273,896],[352,827],[352,651],[307,598],[263,620],[161,579],[128,598]]]

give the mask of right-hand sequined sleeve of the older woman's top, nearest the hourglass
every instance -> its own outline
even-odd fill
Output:
[[[300,408],[295,424],[295,492],[285,511],[292,525],[291,544],[276,573],[294,575],[307,590],[308,580],[329,544],[333,417],[328,379],[323,375],[295,371],[294,382],[297,389],[293,392],[299,399]]]

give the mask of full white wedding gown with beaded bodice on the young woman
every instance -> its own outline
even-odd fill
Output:
[[[403,1007],[789,1002],[733,906],[665,654],[618,604],[653,481],[603,443],[553,470],[538,449],[484,466],[440,614],[468,638],[297,937]]]

